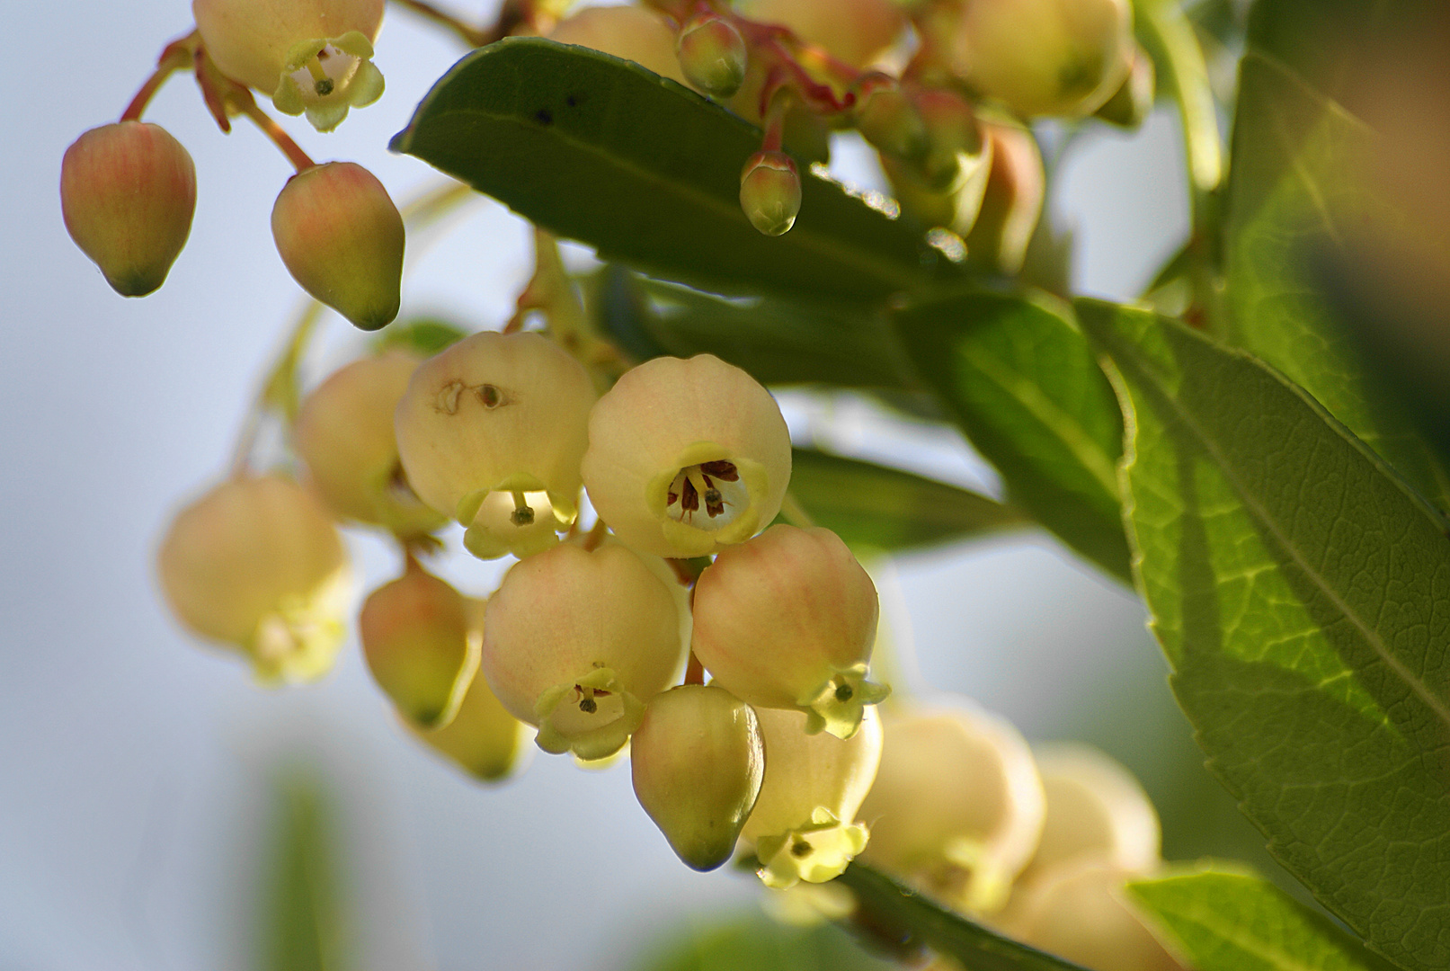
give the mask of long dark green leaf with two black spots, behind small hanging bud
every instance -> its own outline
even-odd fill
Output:
[[[605,259],[719,293],[880,301],[961,275],[908,223],[805,171],[795,229],[760,235],[740,209],[760,138],[629,61],[509,38],[454,65],[393,148]]]

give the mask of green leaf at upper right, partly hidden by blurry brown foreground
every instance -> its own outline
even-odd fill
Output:
[[[1230,178],[1230,339],[1283,371],[1441,512],[1450,474],[1315,283],[1380,204],[1356,171],[1375,133],[1276,61],[1244,58]]]

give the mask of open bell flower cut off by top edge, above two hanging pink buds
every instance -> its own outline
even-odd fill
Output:
[[[191,0],[191,13],[222,74],[319,132],[383,94],[371,59],[383,0]]]

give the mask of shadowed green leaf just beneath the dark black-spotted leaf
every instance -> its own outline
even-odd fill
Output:
[[[909,364],[886,320],[835,304],[699,290],[610,270],[599,280],[600,329],[637,358],[713,354],[763,384],[902,388]]]

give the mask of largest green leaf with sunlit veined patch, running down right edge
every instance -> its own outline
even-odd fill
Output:
[[[1209,768],[1376,949],[1450,965],[1450,541],[1304,390],[1077,303],[1128,416],[1140,590]]]

